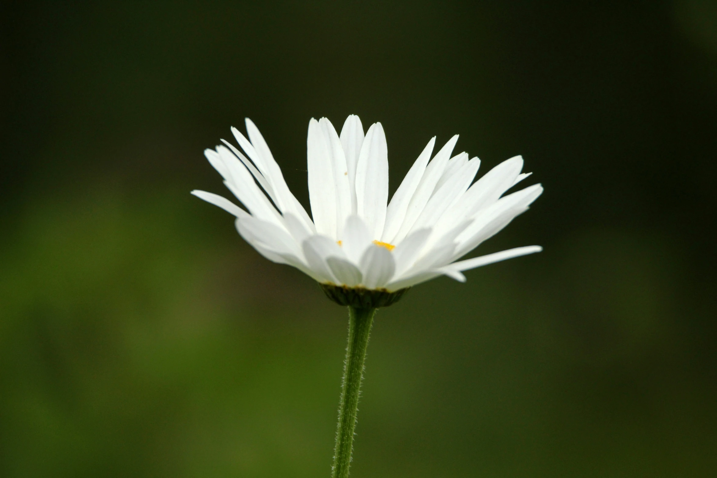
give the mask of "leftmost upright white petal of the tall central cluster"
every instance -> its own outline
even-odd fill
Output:
[[[336,238],[336,186],[333,165],[318,121],[311,118],[306,140],[311,215],[316,232]]]

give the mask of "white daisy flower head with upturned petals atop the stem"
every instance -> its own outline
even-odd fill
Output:
[[[434,137],[389,202],[388,150],[381,123],[364,135],[361,120],[351,115],[338,135],[326,118],[312,119],[307,140],[309,217],[289,191],[256,125],[248,118],[246,125],[249,139],[232,128],[241,150],[222,140],[224,145],[204,154],[248,212],[217,194],[192,193],[236,216],[239,234],[264,257],[305,272],[343,305],[348,305],[343,297],[347,291],[374,299],[383,294],[386,300],[379,302],[388,305],[420,282],[442,274],[465,282],[462,272],[467,269],[542,249],[518,247],[457,261],[543,192],[535,184],[503,196],[531,174],[521,173],[521,156],[503,161],[474,183],[480,160],[469,159],[467,153],[451,156],[455,135],[429,161]]]

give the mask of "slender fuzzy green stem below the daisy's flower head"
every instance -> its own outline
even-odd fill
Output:
[[[369,345],[369,333],[376,309],[348,307],[348,346],[346,362],[343,363],[341,403],[338,406],[338,430],[336,448],[333,450],[332,478],[348,477],[351,466],[353,430],[356,429],[356,412],[359,411],[361,378],[364,376],[364,360]]]

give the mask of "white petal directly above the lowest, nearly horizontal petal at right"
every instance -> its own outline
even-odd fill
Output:
[[[478,247],[478,244],[507,226],[516,216],[525,212],[541,193],[543,193],[543,186],[535,184],[516,193],[508,194],[493,206],[478,212],[473,224],[457,237],[459,245],[454,259],[467,254]]]

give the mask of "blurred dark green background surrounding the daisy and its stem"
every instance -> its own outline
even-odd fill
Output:
[[[714,476],[714,0],[0,8],[0,476],[329,476],[346,311],[189,191],[351,113],[546,188],[379,312],[352,476]]]

